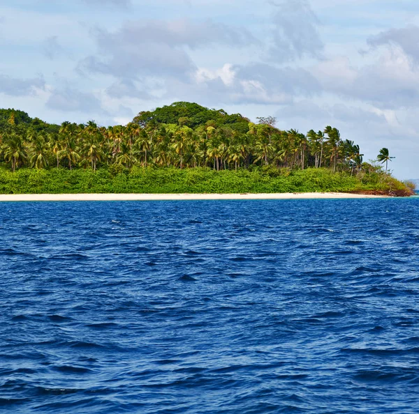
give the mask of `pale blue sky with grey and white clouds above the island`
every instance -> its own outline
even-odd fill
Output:
[[[419,178],[417,0],[1,0],[0,107],[130,121],[179,100],[338,128]]]

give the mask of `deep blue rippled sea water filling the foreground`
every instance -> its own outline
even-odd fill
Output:
[[[418,413],[419,198],[0,204],[0,411]]]

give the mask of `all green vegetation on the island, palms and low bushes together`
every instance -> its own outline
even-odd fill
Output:
[[[0,194],[412,194],[389,173],[387,148],[381,164],[364,162],[337,128],[304,134],[275,124],[190,102],[108,128],[0,109]]]

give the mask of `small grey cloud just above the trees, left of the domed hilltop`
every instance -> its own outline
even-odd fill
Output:
[[[62,112],[105,113],[101,101],[93,93],[78,91],[69,86],[64,89],[54,89],[45,106]]]

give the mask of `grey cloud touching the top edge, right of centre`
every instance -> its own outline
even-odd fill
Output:
[[[270,59],[284,62],[304,56],[318,58],[323,42],[318,33],[320,22],[307,0],[274,3],[272,47]]]

